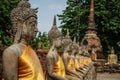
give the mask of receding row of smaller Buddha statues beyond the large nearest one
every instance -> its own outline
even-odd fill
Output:
[[[76,38],[72,41],[67,30],[66,36],[56,26],[54,17],[53,26],[48,33],[50,50],[46,56],[48,80],[95,80],[95,68],[87,46],[79,46]],[[64,47],[60,54],[59,48]]]

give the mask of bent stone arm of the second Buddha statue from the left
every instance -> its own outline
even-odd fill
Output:
[[[47,72],[48,72],[48,75],[55,79],[55,80],[67,80],[66,78],[56,74],[53,72],[53,67],[54,67],[54,60],[53,58],[51,57],[48,57],[47,59]]]

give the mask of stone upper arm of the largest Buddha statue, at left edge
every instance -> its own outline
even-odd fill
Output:
[[[5,80],[18,80],[18,56],[12,50],[6,49],[2,57]]]

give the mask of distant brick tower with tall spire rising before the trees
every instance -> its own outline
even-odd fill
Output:
[[[85,33],[86,34],[82,39],[81,45],[85,44],[85,42],[87,41],[87,46],[89,50],[94,48],[97,54],[101,53],[101,41],[97,36],[97,29],[95,27],[94,20],[94,0],[91,0],[89,22]]]

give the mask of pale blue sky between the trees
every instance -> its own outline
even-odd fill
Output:
[[[38,7],[38,29],[40,32],[47,32],[51,29],[54,15],[62,14],[62,10],[66,8],[67,0],[29,0],[31,7]],[[57,19],[57,26],[60,20]]]

